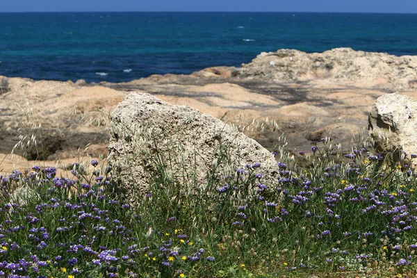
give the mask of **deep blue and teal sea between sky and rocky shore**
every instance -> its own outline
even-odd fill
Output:
[[[417,55],[416,26],[411,14],[0,13],[0,75],[121,82],[282,48]]]

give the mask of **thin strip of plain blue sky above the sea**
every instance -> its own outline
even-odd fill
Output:
[[[231,11],[417,13],[417,0],[1,0],[0,12]]]

